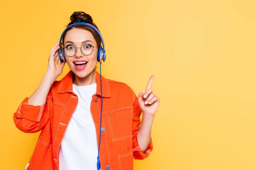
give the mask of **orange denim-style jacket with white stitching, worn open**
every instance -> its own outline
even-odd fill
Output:
[[[70,71],[63,79],[53,83],[45,105],[28,105],[26,97],[14,113],[14,122],[19,130],[25,133],[42,130],[27,170],[59,170],[61,140],[78,103],[78,97],[72,91],[72,83]],[[98,72],[96,83],[97,90],[92,96],[90,110],[99,144],[101,91]],[[128,85],[102,76],[102,97],[102,127],[105,131],[101,133],[101,169],[132,170],[133,158],[144,159],[153,149],[152,140],[145,153],[140,150],[137,142],[141,123],[137,96]]]

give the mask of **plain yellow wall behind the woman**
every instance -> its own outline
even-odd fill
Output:
[[[134,170],[255,170],[255,6],[254,0],[1,0],[0,169],[23,170],[29,161],[38,133],[17,130],[13,113],[41,82],[72,12],[85,11],[105,39],[105,77],[139,93],[155,75],[161,102],[154,150],[134,161]]]

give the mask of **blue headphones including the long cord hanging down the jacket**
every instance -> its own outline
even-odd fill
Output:
[[[101,111],[100,111],[100,130],[99,130],[99,147],[98,147],[98,156],[97,156],[97,170],[100,170],[100,161],[99,161],[99,148],[100,148],[100,142],[101,142],[101,127],[102,127],[102,108],[103,108],[103,97],[102,97],[102,73],[101,73],[101,64],[102,64],[102,60],[103,62],[105,62],[106,60],[106,54],[105,54],[105,45],[104,45],[104,41],[103,41],[103,38],[102,38],[102,35],[100,34],[99,30],[89,24],[89,23],[84,23],[84,22],[79,22],[79,23],[74,23],[74,24],[71,24],[70,26],[68,26],[67,28],[70,28],[71,26],[75,26],[75,25],[84,25],[84,26],[90,26],[91,28],[93,28],[99,35],[100,39],[101,39],[101,42],[102,42],[102,46],[99,47],[99,51],[98,51],[98,55],[97,55],[97,61],[100,62],[100,86],[101,86],[101,99],[102,99],[102,102],[101,102]],[[64,52],[64,49],[61,48],[61,40],[63,38],[63,34],[64,32],[67,30],[67,28],[62,32],[61,34],[61,38],[60,38],[60,42],[59,42],[59,59],[60,59],[60,62],[67,62],[66,59],[65,59],[65,52]]]

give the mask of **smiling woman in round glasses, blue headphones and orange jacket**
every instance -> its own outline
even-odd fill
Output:
[[[132,170],[133,158],[144,159],[153,149],[160,101],[151,90],[154,76],[138,97],[128,85],[105,79],[96,71],[105,51],[92,17],[74,12],[70,20],[50,51],[41,84],[14,113],[19,130],[42,130],[26,170]],[[56,81],[65,63],[71,71]]]

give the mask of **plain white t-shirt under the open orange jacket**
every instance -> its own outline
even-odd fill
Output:
[[[97,170],[98,146],[96,129],[90,112],[96,83],[87,86],[73,84],[78,105],[70,119],[59,151],[60,170]]]

